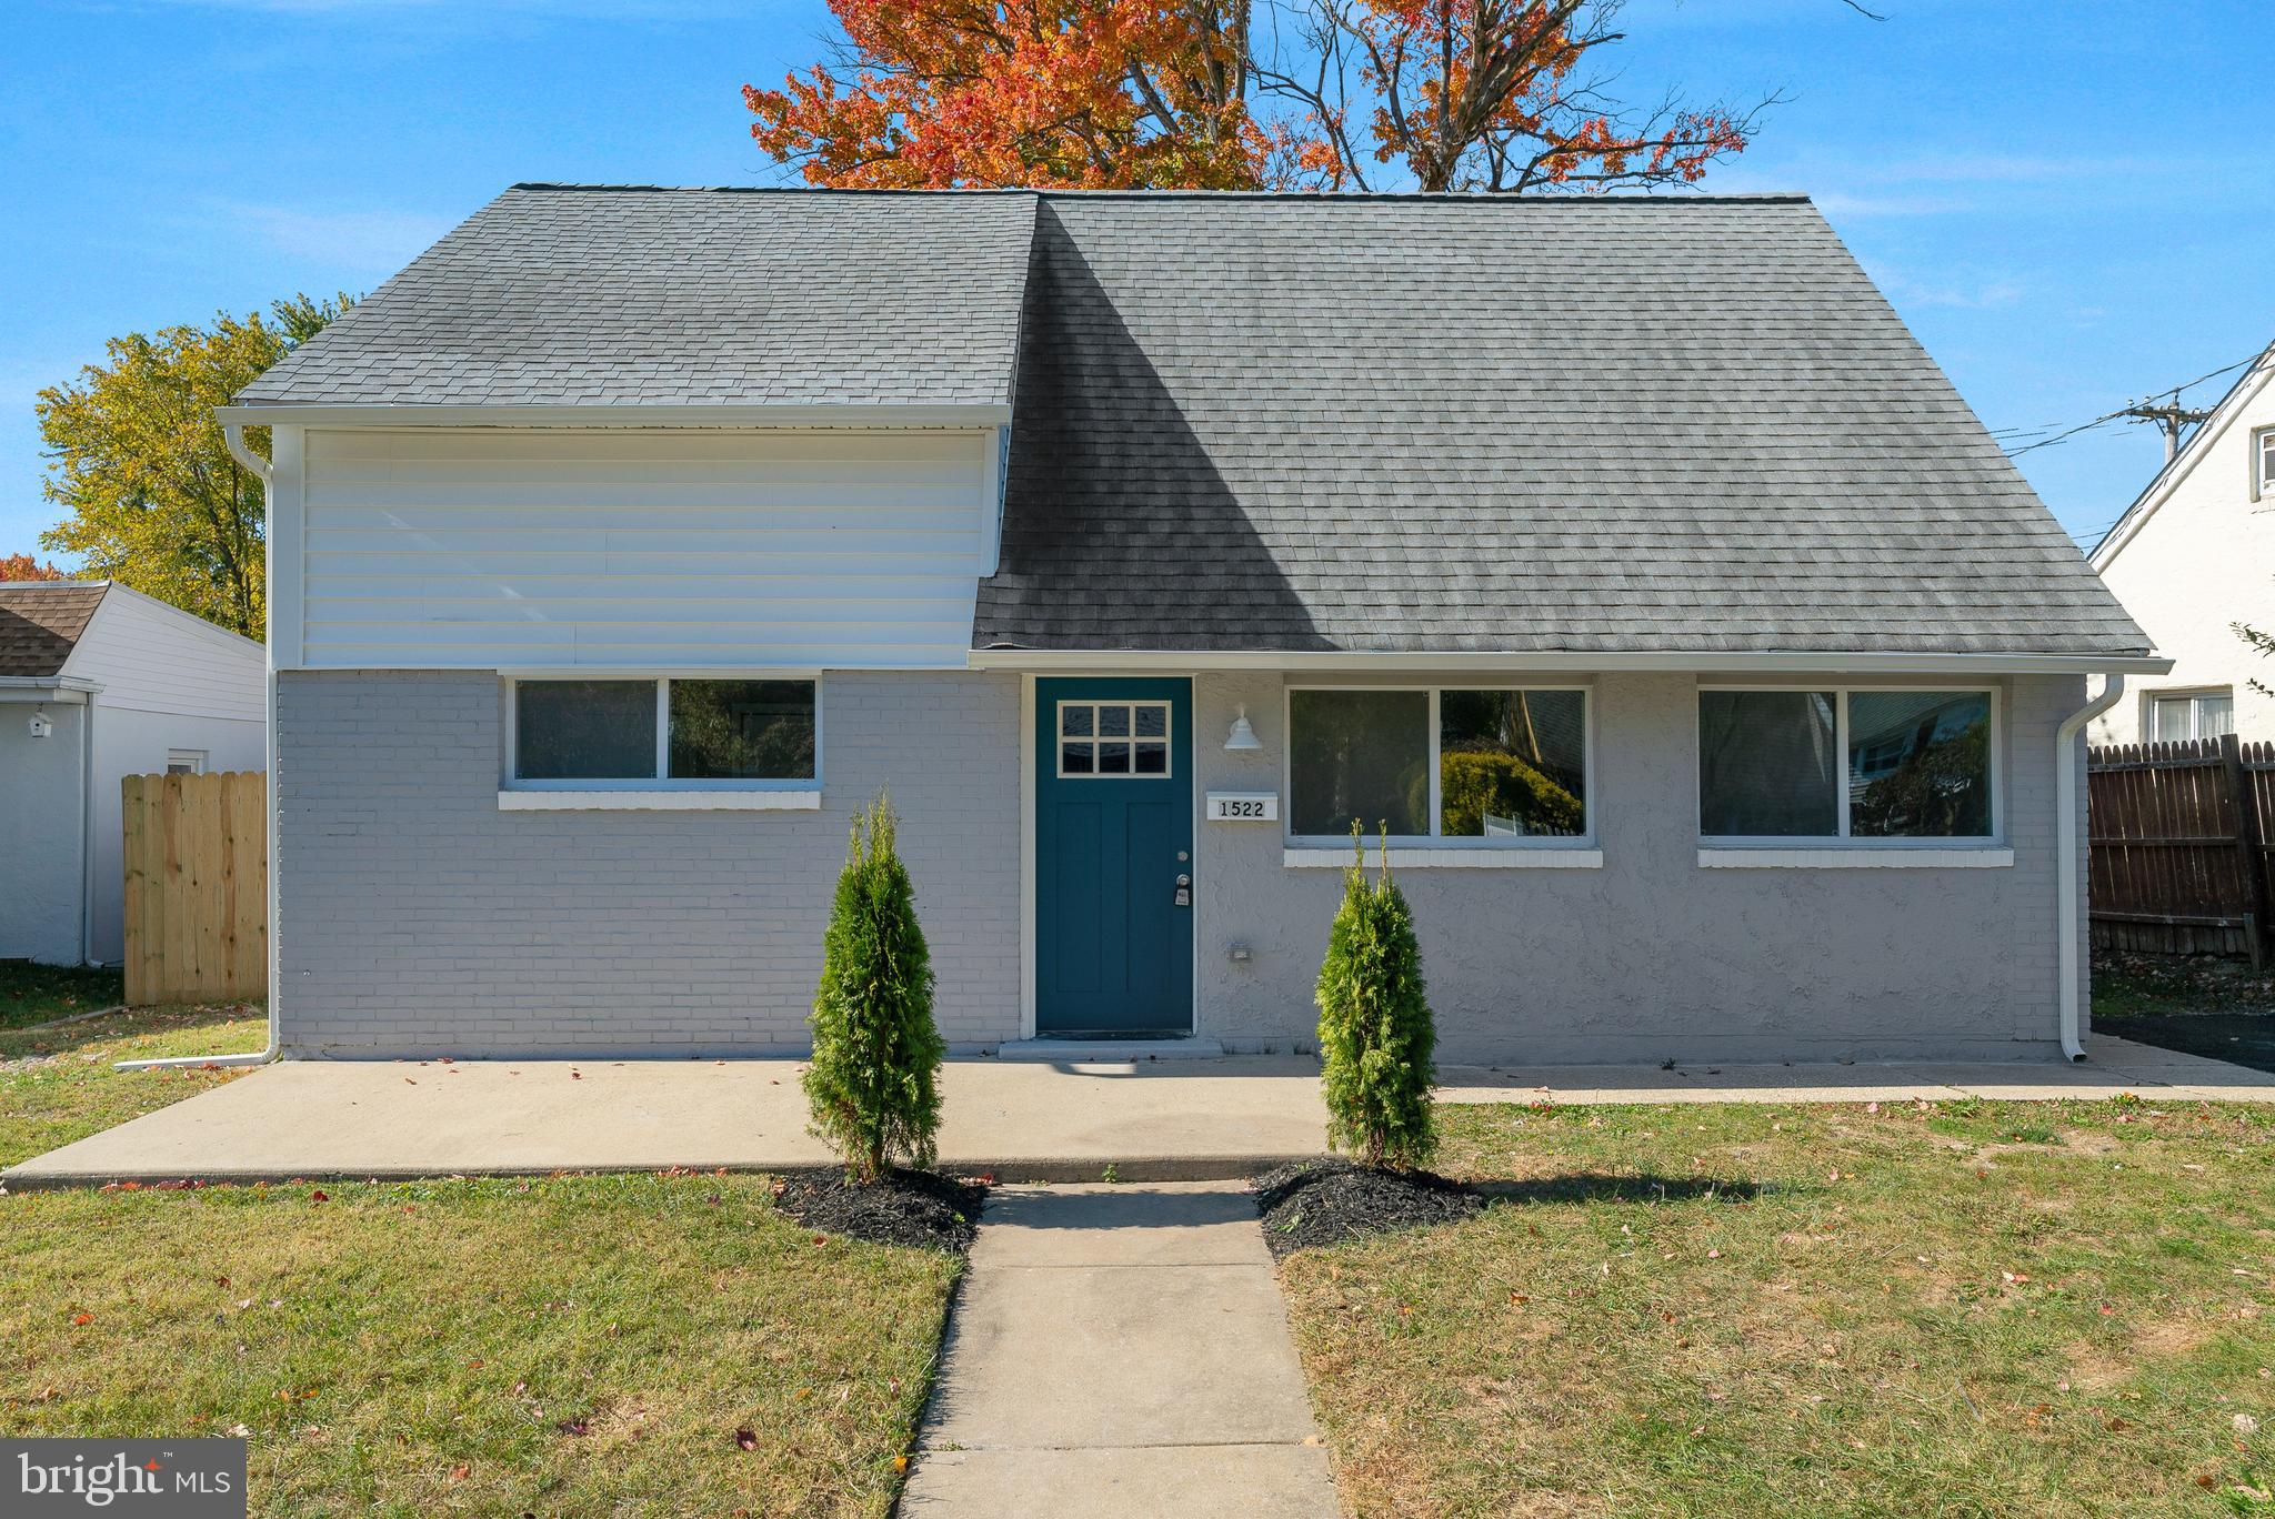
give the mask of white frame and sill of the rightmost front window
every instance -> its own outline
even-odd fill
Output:
[[[1840,798],[1834,807],[1838,835],[1699,835],[1699,866],[1836,866],[1836,869],[1927,869],[1927,866],[2000,866],[2013,864],[2007,848],[2007,719],[2000,687],[1941,682],[1906,684],[1840,684],[1827,680],[1702,680],[1697,694],[1706,691],[1829,691],[1834,696],[1834,753],[1840,757]],[[1850,696],[1877,696],[1884,691],[1956,691],[1984,694],[1991,703],[1991,832],[1979,837],[1936,839],[1884,839],[1850,835],[1850,771],[1847,771],[1847,700]],[[1699,775],[1697,700],[1690,705],[1690,819],[1693,828],[1706,814],[1706,778]],[[1938,857],[1941,855],[1941,857]],[[2004,855],[2004,860],[2000,860]]]

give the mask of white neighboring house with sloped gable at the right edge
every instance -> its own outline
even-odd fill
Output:
[[[2243,371],[2189,446],[2093,550],[2093,568],[2173,673],[2093,723],[2095,744],[2275,739],[2275,662],[2234,623],[2275,632],[2275,348]]]

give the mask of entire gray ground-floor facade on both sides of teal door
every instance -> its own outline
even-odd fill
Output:
[[[1281,787],[1285,684],[1197,678],[1197,791]],[[942,1032],[1019,1035],[1017,675],[826,675],[821,812],[500,814],[496,678],[278,687],[291,1055],[801,1051],[849,812],[878,785],[903,814]],[[2000,689],[2011,869],[1734,871],[1697,864],[1697,678],[1599,678],[1602,869],[1401,871],[1440,1055],[2052,1055],[2052,734],[2084,682]],[[1260,753],[1222,748],[1238,705]],[[1197,1030],[1231,1048],[1313,1039],[1340,875],[1281,850],[1281,825],[1197,823]]]

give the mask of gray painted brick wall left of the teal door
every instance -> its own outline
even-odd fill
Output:
[[[500,716],[489,673],[280,673],[289,1055],[801,1051],[887,782],[942,1032],[1017,1037],[1017,678],[826,675],[819,812],[498,812]]]

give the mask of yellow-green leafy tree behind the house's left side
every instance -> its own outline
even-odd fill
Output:
[[[107,362],[39,393],[50,459],[48,500],[66,516],[41,546],[80,555],[89,578],[118,580],[248,637],[268,609],[262,482],[230,457],[214,421],[264,368],[355,300],[293,296],[212,327],[164,327],[107,343]],[[246,428],[266,455],[268,430]]]

